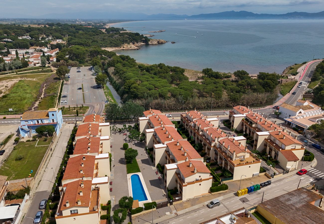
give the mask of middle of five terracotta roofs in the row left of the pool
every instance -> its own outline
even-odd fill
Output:
[[[89,145],[90,143],[90,145]],[[90,149],[88,149],[90,147]],[[99,153],[100,137],[84,137],[76,140],[73,154]]]

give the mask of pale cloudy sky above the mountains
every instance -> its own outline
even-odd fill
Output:
[[[0,0],[0,17],[70,12],[132,12],[197,15],[245,10],[254,13],[320,12],[323,0]]]

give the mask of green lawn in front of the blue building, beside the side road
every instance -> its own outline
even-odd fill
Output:
[[[0,167],[0,174],[8,176],[8,180],[15,180],[28,177],[30,170],[33,170],[31,176],[34,176],[48,148],[48,146],[36,147],[35,145],[36,141],[19,142]],[[17,155],[22,155],[23,159],[16,161]]]

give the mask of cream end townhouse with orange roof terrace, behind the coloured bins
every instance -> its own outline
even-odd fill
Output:
[[[233,174],[233,181],[259,176],[261,161],[248,150],[242,136],[223,138],[214,146],[218,165]],[[217,159],[216,159],[217,158]]]

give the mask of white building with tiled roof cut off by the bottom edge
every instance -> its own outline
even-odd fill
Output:
[[[261,224],[261,222],[255,218],[249,210],[242,207],[237,210],[228,212],[224,215],[216,218],[209,219],[201,222],[200,224]]]

